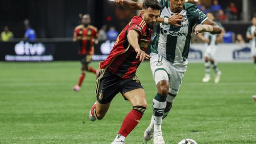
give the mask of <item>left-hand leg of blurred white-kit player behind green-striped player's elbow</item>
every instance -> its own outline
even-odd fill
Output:
[[[210,51],[211,51],[211,46],[208,46],[204,54],[205,75],[202,80],[203,82],[208,82],[210,80],[210,62],[209,62]]]

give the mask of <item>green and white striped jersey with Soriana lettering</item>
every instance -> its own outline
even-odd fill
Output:
[[[159,0],[159,2],[162,5],[160,17],[170,17],[175,14],[170,11],[168,0]],[[157,34],[151,44],[152,53],[159,54],[170,62],[186,61],[194,26],[208,19],[196,5],[189,3],[184,4],[180,14],[184,20],[179,23],[182,27],[158,23]]]

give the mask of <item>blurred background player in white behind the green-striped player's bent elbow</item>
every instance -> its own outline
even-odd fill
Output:
[[[214,14],[208,12],[207,13],[207,17],[214,21],[215,17]],[[221,71],[219,70],[218,66],[217,66],[217,62],[215,61],[215,52],[218,49],[217,47],[217,42],[219,42],[222,38],[223,38],[223,34],[225,33],[224,28],[222,27],[220,22],[216,22],[221,28],[222,28],[222,32],[219,36],[217,35],[212,35],[210,33],[204,33],[204,35],[202,33],[198,34],[198,37],[200,39],[202,39],[205,42],[205,46],[206,46],[206,51],[204,54],[204,66],[205,66],[205,72],[206,74],[204,75],[203,78],[203,82],[209,82],[210,80],[210,63],[212,65],[212,68],[215,71],[215,83],[218,83],[220,81],[220,77],[221,77]]]

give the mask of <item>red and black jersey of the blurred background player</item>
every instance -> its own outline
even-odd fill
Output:
[[[79,37],[79,55],[92,54],[94,49],[94,41],[98,37],[98,30],[94,26],[89,25],[84,28],[83,25],[79,25],[74,30],[74,38]]]

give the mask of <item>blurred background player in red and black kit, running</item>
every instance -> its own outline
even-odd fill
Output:
[[[78,84],[74,86],[75,91],[79,91],[82,85],[83,79],[86,77],[86,71],[90,71],[98,76],[99,70],[95,70],[88,64],[91,62],[92,56],[94,55],[94,43],[98,37],[98,30],[94,26],[90,25],[91,18],[89,14],[82,16],[81,24],[74,30],[74,41],[79,42],[79,58],[82,64],[81,75],[78,80]]]

